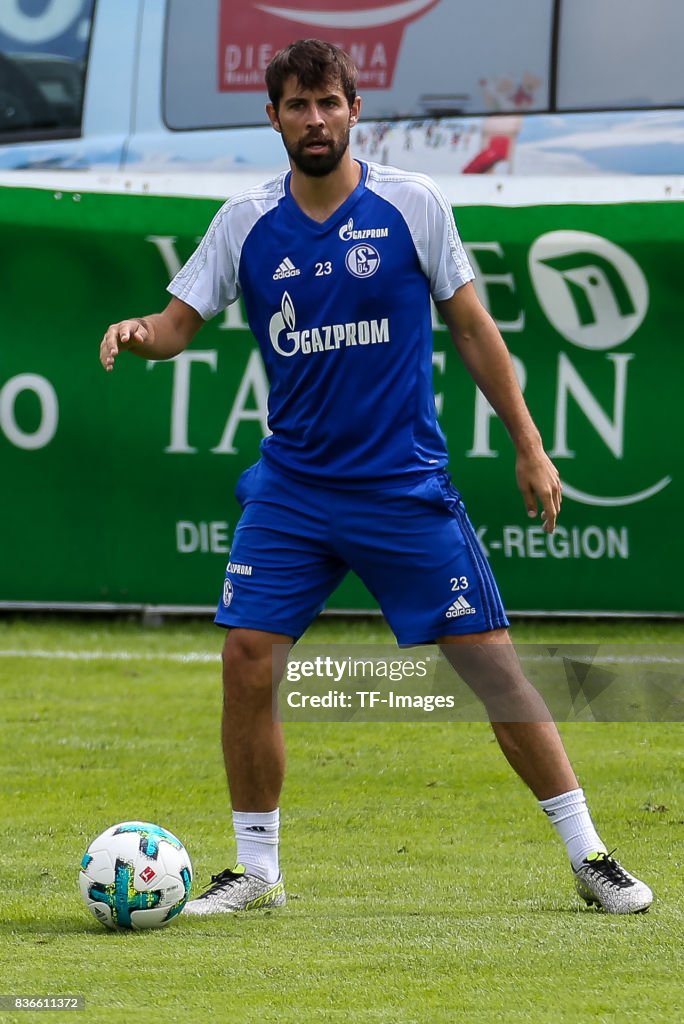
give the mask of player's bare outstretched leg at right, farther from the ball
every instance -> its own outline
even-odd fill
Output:
[[[525,678],[508,631],[448,636],[437,642],[484,703],[507,761],[537,799],[576,790],[580,783],[558,729]]]

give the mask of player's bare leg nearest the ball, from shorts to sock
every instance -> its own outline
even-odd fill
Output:
[[[236,811],[272,811],[280,802],[285,744],[273,721],[273,644],[292,638],[234,629],[223,646],[223,760]]]

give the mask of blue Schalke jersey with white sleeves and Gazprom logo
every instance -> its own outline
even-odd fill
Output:
[[[361,170],[323,223],[293,200],[290,172],[229,200],[169,286],[205,319],[243,296],[270,381],[263,457],[341,486],[445,465],[430,295],[473,278],[429,178]]]

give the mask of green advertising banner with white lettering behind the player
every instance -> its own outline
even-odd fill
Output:
[[[618,199],[618,197],[616,197]],[[163,307],[219,201],[0,189],[0,603],[211,606],[267,431],[239,304],[169,362],[106,326]],[[451,473],[512,611],[678,613],[684,205],[459,206],[477,288],[564,485],[528,519],[501,423],[435,315]],[[353,415],[353,410],[350,410]],[[374,602],[349,577],[331,607]]]

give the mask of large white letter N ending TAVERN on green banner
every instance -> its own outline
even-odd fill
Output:
[[[552,459],[574,459],[575,453],[567,446],[567,396],[571,394],[578,406],[596,430],[601,440],[622,459],[625,446],[625,402],[627,399],[627,364],[633,353],[611,353],[605,356],[615,368],[615,389],[612,401],[612,420],[603,412],[582,377],[564,352],[558,357],[558,392]]]

